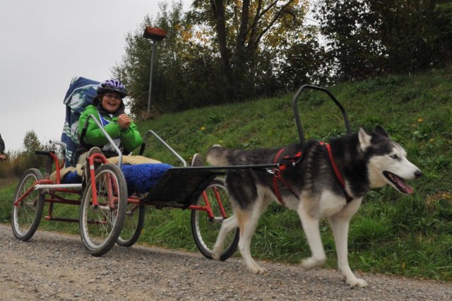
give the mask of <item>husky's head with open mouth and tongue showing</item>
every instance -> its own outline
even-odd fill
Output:
[[[394,142],[381,126],[367,134],[359,129],[359,148],[367,159],[371,188],[390,184],[402,194],[412,194],[413,189],[406,180],[421,177],[422,172],[406,158],[406,152]]]

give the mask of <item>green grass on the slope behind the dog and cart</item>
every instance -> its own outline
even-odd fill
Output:
[[[330,90],[347,110],[353,132],[360,126],[370,130],[381,124],[424,173],[412,183],[412,196],[384,187],[364,197],[350,225],[350,266],[372,273],[452,281],[452,71],[385,76]],[[138,122],[138,128],[142,134],[153,129],[187,161],[215,143],[230,148],[284,146],[298,140],[292,97],[165,114]],[[343,117],[326,95],[302,93],[299,114],[306,138],[326,140],[345,134]],[[180,165],[151,137],[145,155]],[[0,187],[2,223],[9,223],[13,186]],[[71,206],[57,211],[77,216],[77,211],[66,207]],[[40,228],[78,232],[76,224],[42,222]],[[328,223],[321,223],[321,234],[326,266],[334,268],[335,245]],[[196,251],[189,211],[147,208],[140,242]],[[261,218],[251,251],[257,259],[294,264],[308,256],[297,214],[271,205]]]

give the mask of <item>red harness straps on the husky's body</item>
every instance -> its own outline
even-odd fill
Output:
[[[323,143],[323,142],[321,142],[320,144],[322,146],[325,146],[326,151],[328,152],[328,158],[330,159],[331,167],[333,167],[334,174],[335,174],[336,178],[338,179],[340,187],[342,188],[342,190],[345,194],[345,199],[347,199],[347,203],[352,201],[353,198],[350,196],[350,194],[347,193],[347,190],[345,189],[344,178],[340,174],[338,165],[336,165],[335,160],[333,158],[333,152],[331,151],[331,146],[328,143]],[[278,168],[274,168],[273,170],[268,170],[268,172],[273,174],[273,192],[275,193],[276,198],[278,199],[278,201],[280,201],[281,204],[285,205],[285,203],[283,201],[283,197],[281,196],[281,191],[280,191],[280,187],[278,185],[278,181],[283,183],[283,185],[287,189],[289,189],[289,191],[295,197],[297,197],[297,198],[299,197],[297,194],[295,194],[295,192],[292,190],[292,188],[290,188],[290,185],[287,182],[285,182],[285,180],[283,179],[283,171],[289,166],[294,167],[295,165],[297,165],[297,163],[299,163],[299,161],[301,160],[302,152],[298,152],[293,157],[286,155],[283,158],[283,160],[278,162],[278,158],[280,157],[281,153],[283,153],[283,151],[284,151],[284,148],[281,148],[280,151],[278,151],[278,153],[275,155],[275,158],[273,159],[273,164],[278,164]]]

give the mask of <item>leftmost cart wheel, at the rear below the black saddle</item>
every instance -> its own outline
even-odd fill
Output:
[[[11,225],[14,236],[24,242],[30,240],[40,224],[42,209],[44,208],[44,194],[41,194],[39,190],[34,190],[20,201],[17,206],[14,206],[14,203],[20,196],[25,194],[25,191],[32,188],[33,184],[39,179],[42,179],[41,172],[36,168],[30,168],[20,179],[14,195]]]

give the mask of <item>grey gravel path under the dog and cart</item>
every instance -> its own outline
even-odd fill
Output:
[[[337,271],[303,272],[262,263],[265,276],[238,259],[157,247],[115,246],[100,258],[77,235],[37,231],[29,242],[0,225],[0,300],[452,300],[452,283],[360,274],[347,288]]]

